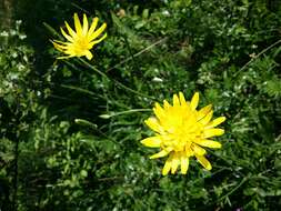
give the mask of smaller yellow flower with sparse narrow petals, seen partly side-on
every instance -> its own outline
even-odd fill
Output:
[[[91,60],[92,53],[90,52],[90,50],[94,44],[101,42],[107,37],[107,33],[104,33],[101,38],[97,39],[107,28],[107,23],[103,23],[99,29],[96,30],[99,21],[98,18],[93,19],[90,28],[86,14],[83,14],[82,26],[77,13],[74,13],[73,19],[76,30],[71,29],[67,21],[66,27],[68,29],[68,33],[62,28],[60,28],[62,36],[68,41],[52,41],[56,49],[68,54],[64,57],[59,57],[58,59],[86,56],[87,59]]]

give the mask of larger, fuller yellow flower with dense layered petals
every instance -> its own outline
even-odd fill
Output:
[[[162,174],[167,175],[170,171],[175,173],[181,167],[181,173],[185,174],[189,169],[189,158],[195,157],[197,160],[207,169],[211,170],[211,163],[205,159],[207,148],[221,148],[221,143],[209,140],[211,137],[221,135],[223,129],[215,128],[223,121],[224,117],[211,121],[213,111],[209,104],[199,111],[197,110],[199,93],[194,93],[191,102],[185,101],[182,92],[173,94],[173,105],[163,101],[163,108],[155,103],[153,112],[155,118],[149,118],[144,122],[154,132],[154,137],[143,139],[142,144],[149,148],[160,148],[160,152],[150,159],[169,155],[162,169]]]

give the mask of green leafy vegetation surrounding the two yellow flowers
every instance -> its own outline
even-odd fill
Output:
[[[3,0],[0,11],[1,210],[281,207],[280,1]],[[56,60],[49,41],[74,12],[108,23],[90,62]],[[228,118],[211,172],[193,160],[162,177],[164,159],[140,144],[152,113],[132,110],[179,91]]]

